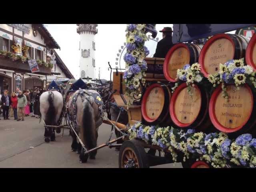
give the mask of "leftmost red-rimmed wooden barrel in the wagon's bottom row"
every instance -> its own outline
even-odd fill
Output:
[[[145,123],[161,124],[169,117],[171,92],[165,84],[150,85],[142,98],[141,112]]]

